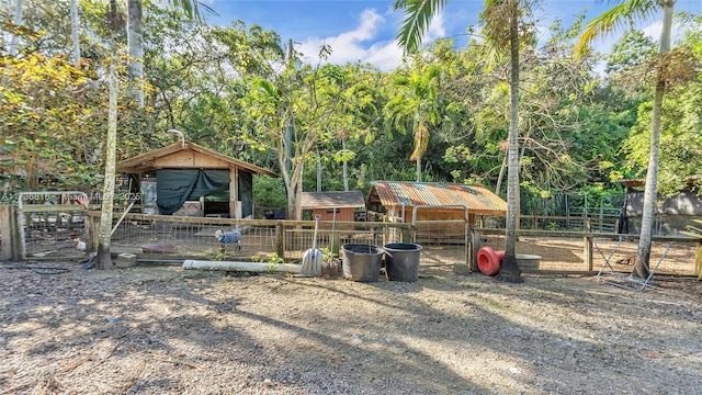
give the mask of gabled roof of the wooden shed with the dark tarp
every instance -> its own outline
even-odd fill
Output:
[[[157,169],[229,169],[239,168],[250,172],[278,177],[274,172],[228,157],[195,143],[176,143],[163,148],[141,154],[117,163],[117,171],[126,173],[154,173]]]

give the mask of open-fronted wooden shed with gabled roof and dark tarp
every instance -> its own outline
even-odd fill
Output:
[[[141,182],[141,201],[147,207],[150,195],[155,194],[159,214],[230,218],[253,215],[254,174],[278,177],[258,166],[184,140],[123,160],[116,169],[155,178],[154,182]],[[149,192],[149,182],[154,184],[155,193]]]

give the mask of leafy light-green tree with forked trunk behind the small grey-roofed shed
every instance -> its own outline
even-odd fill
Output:
[[[329,53],[322,46],[320,58]],[[268,59],[265,78],[250,78],[240,103],[244,138],[252,148],[275,153],[287,192],[287,215],[299,219],[305,162],[316,161],[320,144],[333,138],[342,124],[344,100],[336,83],[337,67],[305,65],[298,69],[296,59],[294,50],[285,59]],[[278,70],[281,64],[286,66]]]

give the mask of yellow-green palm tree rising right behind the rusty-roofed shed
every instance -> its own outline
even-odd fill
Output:
[[[421,181],[421,158],[429,145],[429,128],[439,122],[437,80],[440,72],[435,65],[423,65],[409,76],[396,76],[393,79],[396,95],[385,105],[392,126],[404,129],[410,125],[412,129],[415,150],[409,159],[417,162],[417,182]]]

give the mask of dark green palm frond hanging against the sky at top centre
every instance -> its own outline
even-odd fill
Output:
[[[396,0],[395,10],[404,10],[405,20],[397,40],[405,53],[415,53],[429,30],[432,18],[441,12],[449,0]]]

